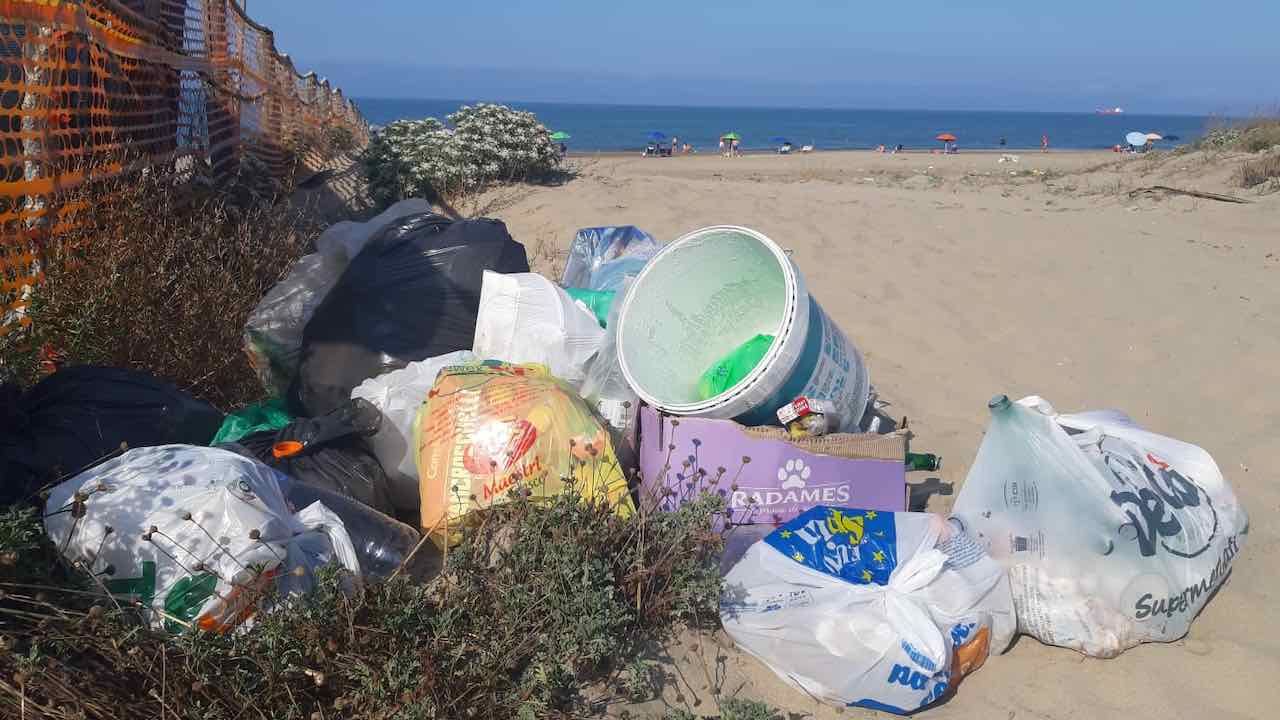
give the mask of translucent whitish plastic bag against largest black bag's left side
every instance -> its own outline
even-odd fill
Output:
[[[426,200],[401,200],[366,223],[334,223],[316,238],[316,252],[303,255],[271,286],[244,323],[244,352],[268,393],[288,391],[298,369],[302,331],[369,238],[397,218],[430,210]]]

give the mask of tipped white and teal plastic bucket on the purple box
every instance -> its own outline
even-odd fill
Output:
[[[727,391],[698,397],[698,378],[756,334],[768,352]],[[618,315],[622,374],[646,404],[673,415],[777,424],[804,395],[829,400],[841,432],[867,409],[858,348],[809,296],[791,258],[756,231],[716,225],[662,249],[631,283]]]

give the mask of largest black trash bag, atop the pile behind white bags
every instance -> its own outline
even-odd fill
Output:
[[[289,410],[324,415],[369,378],[470,348],[484,270],[529,272],[499,220],[426,213],[378,231],[303,331]]]

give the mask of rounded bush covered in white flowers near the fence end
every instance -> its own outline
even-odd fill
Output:
[[[463,105],[448,115],[397,120],[379,132],[365,154],[370,195],[381,204],[426,195],[472,192],[516,182],[559,164],[552,133],[532,113],[506,105]]]

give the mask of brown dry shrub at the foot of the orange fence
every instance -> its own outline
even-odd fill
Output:
[[[146,370],[221,409],[260,398],[244,319],[315,234],[264,181],[193,199],[192,186],[147,173],[73,193],[86,209],[45,247],[23,347]],[[31,365],[20,379],[35,379]]]

